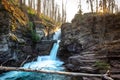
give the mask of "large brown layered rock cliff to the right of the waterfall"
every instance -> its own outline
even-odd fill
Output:
[[[105,73],[108,69],[115,73],[115,69],[120,69],[119,21],[119,13],[86,13],[76,14],[72,23],[63,24],[58,55],[65,61],[66,68],[90,73]]]

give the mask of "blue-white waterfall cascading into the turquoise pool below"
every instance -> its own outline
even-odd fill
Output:
[[[60,34],[61,30],[58,30],[53,36],[53,40],[57,40],[57,42],[54,43],[50,55],[38,56],[37,61],[26,63],[23,67],[37,70],[64,70],[64,67],[62,67],[63,62],[56,59]],[[69,80],[69,77],[55,74],[11,71],[1,74],[0,80]]]

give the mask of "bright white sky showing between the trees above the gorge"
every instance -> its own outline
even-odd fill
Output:
[[[62,7],[62,0],[55,0],[56,3],[60,6],[60,8]],[[67,22],[71,22],[71,20],[74,18],[75,14],[78,12],[78,5],[79,5],[79,0],[63,0],[64,3],[66,3],[67,1]],[[82,2],[82,11],[83,13],[85,12],[89,12],[90,9],[88,8],[88,5],[86,4],[86,0],[81,0]],[[120,4],[120,0],[116,0],[117,4]],[[120,5],[119,5],[120,8]],[[61,9],[62,12],[62,9]]]

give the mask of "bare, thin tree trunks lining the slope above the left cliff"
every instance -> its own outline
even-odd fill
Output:
[[[60,6],[55,0],[18,0],[20,5],[27,5],[36,10],[37,14],[44,14],[49,16],[56,22],[66,22],[66,3],[62,4],[62,12]]]

